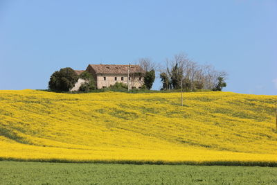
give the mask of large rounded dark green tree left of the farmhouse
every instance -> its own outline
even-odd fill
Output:
[[[52,91],[69,91],[78,80],[78,75],[70,67],[55,71],[48,82],[48,89]]]

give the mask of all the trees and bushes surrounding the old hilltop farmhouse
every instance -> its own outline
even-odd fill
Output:
[[[142,89],[152,88],[156,78],[156,71],[159,73],[158,77],[161,78],[161,90],[183,89],[184,91],[197,91],[206,89],[221,91],[223,87],[226,87],[226,72],[217,71],[212,65],[197,64],[184,53],[179,53],[171,59],[166,59],[164,65],[154,63],[150,58],[140,58],[136,64],[139,64],[145,71]],[[55,71],[48,82],[48,89],[52,91],[69,91],[79,78],[86,81],[81,85],[79,91],[96,89],[96,82],[89,72],[84,71],[78,76],[70,67]],[[127,89],[127,85],[117,83],[110,88]]]

